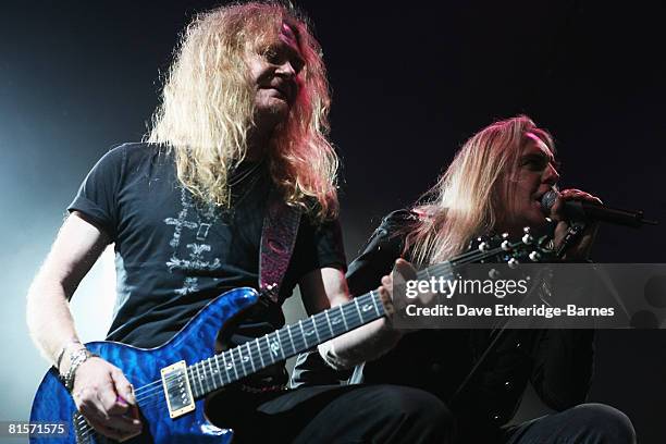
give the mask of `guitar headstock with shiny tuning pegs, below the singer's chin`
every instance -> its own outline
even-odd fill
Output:
[[[520,238],[511,239],[508,233],[495,236],[482,236],[470,243],[466,262],[507,263],[516,268],[519,263],[534,263],[555,259],[552,249],[552,237],[535,237],[530,227],[523,229]]]

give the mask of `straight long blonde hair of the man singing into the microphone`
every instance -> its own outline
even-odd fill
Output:
[[[528,133],[554,151],[553,137],[526,115],[498,121],[465,143],[444,174],[419,200],[420,214],[407,235],[416,263],[442,262],[461,254],[470,239],[492,232],[509,196]]]

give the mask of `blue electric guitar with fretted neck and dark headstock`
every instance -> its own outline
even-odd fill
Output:
[[[544,238],[529,234],[516,243],[505,237],[482,242],[476,250],[420,271],[417,279],[443,275],[454,279],[461,266],[484,260],[538,260]],[[218,332],[232,318],[259,300],[252,288],[236,288],[209,303],[164,345],[143,349],[114,342],[92,342],[86,347],[119,367],[135,387],[144,424],[130,443],[230,443],[232,431],[209,422],[205,397],[271,365],[317,346],[387,313],[375,292],[354,298],[308,319],[214,354]],[[110,442],[98,434],[76,410],[58,372],[51,368],[35,395],[30,422],[64,422],[66,436],[55,442]],[[30,436],[32,443],[53,443],[52,435]]]

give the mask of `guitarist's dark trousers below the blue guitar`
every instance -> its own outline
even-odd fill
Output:
[[[452,415],[440,399],[397,385],[225,394],[208,403],[207,415],[217,425],[234,430],[234,444],[430,444],[449,442],[453,430]]]

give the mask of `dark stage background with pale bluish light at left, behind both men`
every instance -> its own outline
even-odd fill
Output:
[[[563,186],[666,223],[663,2],[359,3],[297,2],[329,67],[349,259],[383,214],[434,183],[467,137],[519,113],[555,135]],[[0,333],[3,355],[27,371],[3,387],[0,419],[27,417],[46,368],[27,338],[24,294],[64,208],[108,148],[145,133],[178,32],[215,4],[2,5]],[[594,259],[664,262],[664,247],[663,224],[603,227]],[[2,377],[16,373],[10,366]],[[665,377],[663,331],[599,333],[591,400],[629,415],[641,443],[666,442]]]

